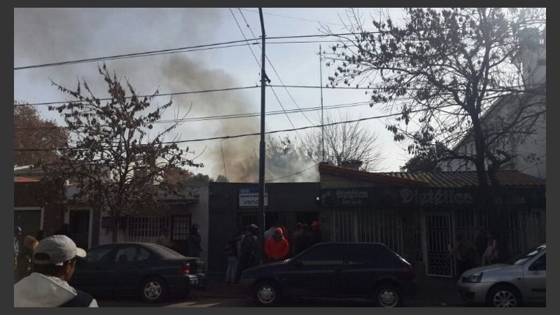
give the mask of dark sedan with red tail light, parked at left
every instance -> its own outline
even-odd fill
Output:
[[[186,297],[204,286],[204,260],[153,243],[95,246],[78,260],[70,285],[99,295],[137,295],[146,302]]]

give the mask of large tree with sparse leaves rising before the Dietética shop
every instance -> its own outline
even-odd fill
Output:
[[[535,132],[535,124],[545,121],[546,85],[535,80],[533,66],[539,60],[525,56],[545,49],[546,9],[407,8],[404,13],[401,20],[373,20],[369,30],[358,11],[351,11],[347,27],[354,35],[340,36],[332,47],[329,64],[336,70],[330,82],[366,82],[372,103],[400,113],[387,129],[395,141],[410,141],[409,151],[439,141],[449,148],[442,159],[472,163],[493,208],[496,172],[517,155],[515,147]],[[474,144],[472,152],[453,150],[465,139]],[[500,232],[506,229],[501,226]]]

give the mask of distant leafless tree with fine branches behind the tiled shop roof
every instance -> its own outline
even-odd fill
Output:
[[[332,116],[324,119],[325,161],[332,165],[358,160],[362,162],[361,170],[374,172],[381,168],[384,153],[377,133],[364,122],[352,121],[349,114]],[[321,128],[310,130],[303,137],[303,146],[309,158],[323,162],[323,132]]]

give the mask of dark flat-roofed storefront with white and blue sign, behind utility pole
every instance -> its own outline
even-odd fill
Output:
[[[239,229],[254,223],[262,231],[258,209],[258,184],[209,184],[209,272],[223,273],[227,267],[223,246]],[[265,230],[281,223],[288,241],[297,222],[311,223],[319,214],[319,183],[267,183],[265,186]]]

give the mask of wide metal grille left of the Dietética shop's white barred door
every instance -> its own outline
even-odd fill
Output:
[[[402,217],[393,211],[333,210],[332,241],[383,243],[402,255]]]

